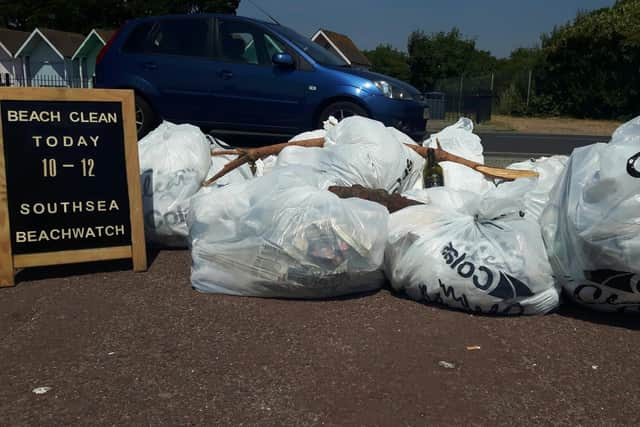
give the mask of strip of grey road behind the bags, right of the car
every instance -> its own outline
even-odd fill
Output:
[[[541,157],[552,154],[569,155],[576,147],[608,142],[605,136],[545,135],[512,132],[479,133],[486,155]]]

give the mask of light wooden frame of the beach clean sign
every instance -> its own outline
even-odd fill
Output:
[[[0,101],[84,101],[117,102],[122,106],[122,130],[129,197],[131,244],[94,249],[12,253],[9,205],[5,163],[3,120],[0,116],[0,287],[15,284],[15,271],[19,268],[72,264],[131,258],[134,271],[147,269],[147,253],[144,238],[142,197],[140,191],[140,167],[138,140],[135,125],[135,101],[131,90],[67,89],[67,88],[0,88]]]

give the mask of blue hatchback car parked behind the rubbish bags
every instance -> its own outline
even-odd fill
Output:
[[[136,19],[96,62],[96,87],[135,91],[139,136],[164,119],[217,135],[284,138],[351,115],[414,139],[425,134],[427,106],[416,88],[352,69],[278,24],[213,14]]]

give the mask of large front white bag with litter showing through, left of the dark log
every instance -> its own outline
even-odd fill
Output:
[[[288,167],[196,195],[188,217],[193,286],[284,298],[380,288],[389,214],[321,189],[330,179],[321,175]]]

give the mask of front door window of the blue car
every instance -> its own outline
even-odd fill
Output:
[[[271,65],[273,54],[284,51],[280,42],[261,28],[245,22],[220,20],[218,39],[219,56],[231,62]]]

